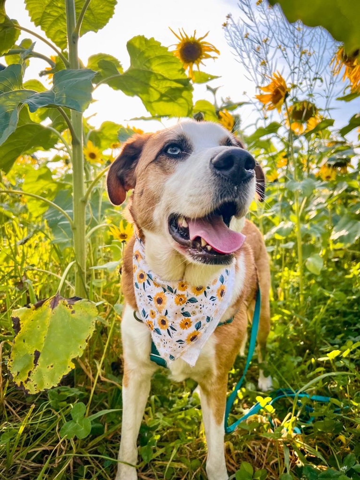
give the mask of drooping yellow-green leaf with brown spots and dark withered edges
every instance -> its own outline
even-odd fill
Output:
[[[82,355],[95,328],[97,310],[89,300],[57,293],[12,312],[15,339],[9,360],[14,382],[34,394],[58,384]]]

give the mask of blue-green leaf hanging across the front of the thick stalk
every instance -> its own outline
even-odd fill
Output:
[[[83,112],[91,101],[91,92],[93,91],[91,80],[95,74],[96,72],[88,69],[61,70],[54,73],[51,90],[34,93],[25,100],[25,103],[31,112],[48,105],[67,107]]]

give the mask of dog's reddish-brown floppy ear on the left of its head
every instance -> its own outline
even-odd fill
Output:
[[[115,205],[126,198],[126,192],[135,187],[135,168],[150,134],[133,135],[122,147],[120,155],[111,165],[107,184],[108,196]]]

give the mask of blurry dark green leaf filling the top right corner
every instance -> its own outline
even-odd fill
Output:
[[[360,48],[360,8],[354,0],[269,0],[279,3],[289,22],[301,20],[305,25],[321,25],[343,42],[346,51],[353,54]]]

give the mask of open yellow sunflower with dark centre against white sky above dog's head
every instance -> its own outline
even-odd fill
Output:
[[[194,65],[196,65],[197,69],[199,70],[200,63],[203,64],[202,60],[217,58],[211,56],[210,53],[217,53],[217,55],[220,55],[219,50],[215,48],[214,45],[203,41],[209,32],[199,38],[195,37],[196,30],[192,36],[188,36],[184,29],[182,29],[182,33],[179,29],[180,36],[177,35],[173,30],[171,30],[171,32],[180,40],[179,43],[176,44],[176,49],[173,53],[175,57],[178,57],[178,59],[182,61],[184,69],[189,69],[189,78],[192,80],[194,80]]]

